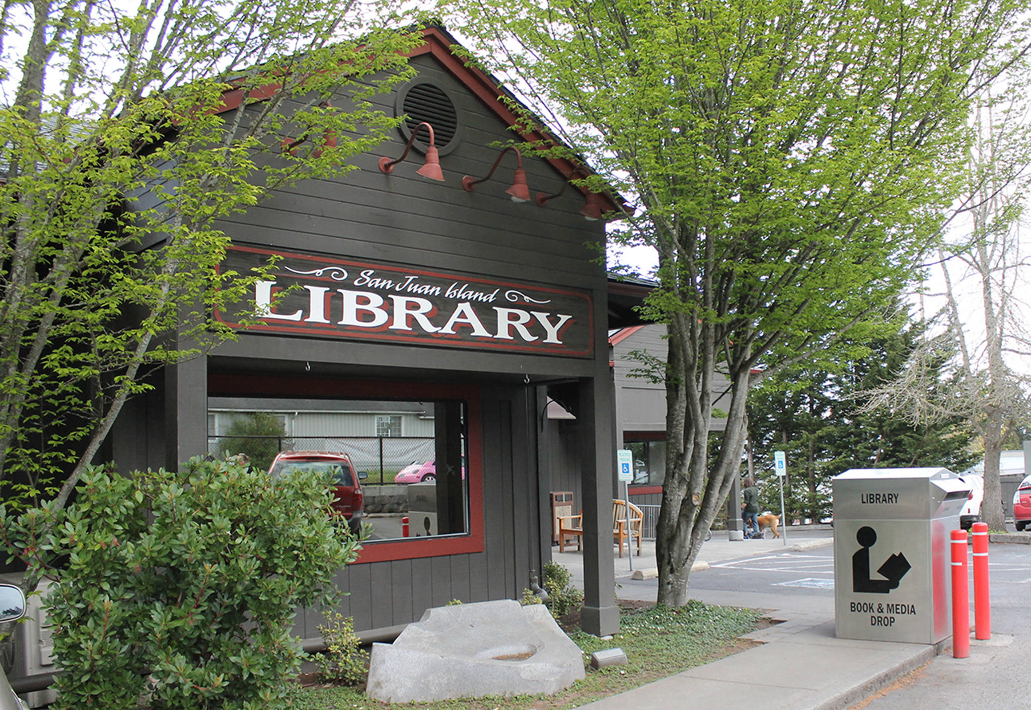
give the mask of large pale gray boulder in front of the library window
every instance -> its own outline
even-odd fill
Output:
[[[554,694],[583,677],[583,652],[546,607],[501,600],[428,609],[393,644],[372,644],[367,692],[388,703]]]

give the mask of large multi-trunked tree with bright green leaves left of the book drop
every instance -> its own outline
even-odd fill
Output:
[[[658,599],[683,605],[738,473],[750,390],[882,319],[952,202],[972,97],[1026,50],[1027,4],[453,7],[450,22],[525,97],[527,125],[554,119],[565,155],[597,169],[578,185],[633,201],[619,238],[658,251],[646,310],[669,334]],[[709,457],[718,373],[730,401]]]

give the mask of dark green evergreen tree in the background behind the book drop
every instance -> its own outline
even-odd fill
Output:
[[[912,424],[900,413],[866,411],[865,393],[893,381],[917,348],[923,328],[891,319],[895,333],[842,348],[822,367],[795,367],[764,380],[749,399],[749,443],[759,464],[765,508],[779,510],[773,452],[787,453],[787,518],[820,520],[831,513],[830,481],[852,468],[973,464],[972,435],[963,417]],[[938,368],[944,366],[939,360]]]

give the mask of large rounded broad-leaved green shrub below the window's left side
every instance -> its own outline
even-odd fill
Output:
[[[179,473],[93,469],[62,511],[0,508],[8,545],[58,582],[57,707],[285,707],[303,655],[294,610],[330,601],[357,555],[330,500],[313,474],[194,459]]]

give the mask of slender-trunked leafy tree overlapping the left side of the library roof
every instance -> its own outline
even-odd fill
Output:
[[[408,75],[419,38],[390,30],[386,5],[4,4],[8,500],[66,501],[148,372],[232,337],[211,313],[260,274],[220,271],[217,221],[389,135],[369,98]]]

